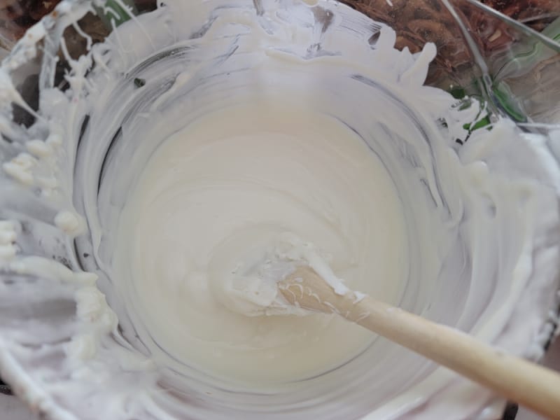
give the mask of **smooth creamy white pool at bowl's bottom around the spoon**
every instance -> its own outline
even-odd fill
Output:
[[[326,372],[372,342],[335,316],[225,307],[230,273],[258,264],[274,237],[319,244],[348,286],[389,302],[408,272],[404,217],[379,158],[339,121],[285,99],[209,113],[166,139],[127,198],[114,256],[158,346],[252,386]]]

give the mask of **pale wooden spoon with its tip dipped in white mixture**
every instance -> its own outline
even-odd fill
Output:
[[[464,332],[353,293],[344,296],[309,267],[279,282],[290,304],[337,313],[550,419],[560,419],[560,374],[512,356]],[[354,303],[356,302],[356,303]]]

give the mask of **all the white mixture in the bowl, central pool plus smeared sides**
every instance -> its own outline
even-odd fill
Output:
[[[64,1],[3,63],[3,104],[36,121],[0,113],[1,375],[59,419],[496,418],[484,389],[235,282],[299,238],[346,286],[531,354],[555,137],[495,117],[459,146],[485,111],[423,86],[435,47],[338,3],[165,3],[70,60],[66,92],[45,65],[37,112],[11,79],[88,9]]]

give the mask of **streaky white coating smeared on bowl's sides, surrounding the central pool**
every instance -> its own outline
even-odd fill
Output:
[[[76,59],[64,48],[57,57],[59,34],[92,9],[87,1],[64,1],[2,64],[1,151],[3,162],[13,165],[4,165],[0,175],[1,376],[33,409],[53,419],[377,419],[389,413],[435,419],[451,411],[454,418],[498,417],[503,401],[383,339],[335,370],[260,391],[234,391],[183,360],[169,357],[165,365],[151,360],[157,343],[139,322],[133,297],[120,293],[120,279],[111,276],[111,232],[126,200],[123,192],[137,177],[126,169],[142,167],[169,134],[197,116],[275,84],[308,90],[321,99],[315,102],[321,103],[318,111],[355,130],[381,159],[398,156],[405,169],[425,174],[419,182],[406,179],[405,169],[388,167],[395,185],[412,191],[400,197],[412,232],[402,307],[507,351],[538,357],[552,333],[558,303],[559,127],[525,125],[524,132],[513,123],[501,127],[519,139],[519,149],[497,142],[486,163],[499,172],[507,162],[516,169],[512,179],[526,176],[542,183],[535,203],[539,211],[545,203],[549,207],[512,216],[520,224],[526,218],[533,223],[531,252],[521,248],[523,235],[507,230],[511,221],[499,218],[481,233],[484,252],[473,252],[470,232],[464,231],[470,222],[461,213],[467,207],[439,182],[447,172],[434,167],[442,159],[434,142],[463,153],[451,135],[452,118],[461,112],[476,116],[478,104],[459,109],[451,97],[442,97],[442,104],[454,106],[433,105],[433,116],[447,117],[437,124],[426,118],[431,111],[410,107],[408,94],[421,92],[423,80],[398,92],[382,83],[384,77],[401,78],[415,64],[427,71],[430,48],[414,57],[397,52],[394,34],[384,25],[335,1],[167,3],[128,20],[118,34]],[[246,21],[233,20],[234,15]],[[253,20],[258,27],[248,25]],[[228,25],[221,25],[224,21]],[[159,25],[148,30],[148,22]],[[279,35],[286,28],[302,36],[286,41]],[[138,37],[146,41],[134,42]],[[313,64],[336,57],[349,40],[356,45],[351,59],[363,64],[360,71],[350,66],[321,72]],[[212,48],[200,48],[202,41]],[[263,51],[289,56],[292,64],[276,72],[252,67]],[[380,59],[388,53],[402,58],[402,73]],[[56,64],[64,59],[69,73],[61,78]],[[188,80],[181,77],[185,70]],[[38,107],[14,90],[29,100],[30,84],[40,90]],[[146,114],[175,103],[181,104],[180,115],[165,132],[151,132]],[[353,106],[340,106],[347,103]],[[414,139],[401,137],[400,128],[385,127],[379,134],[371,109],[412,121]],[[153,141],[134,142],[146,133]],[[482,134],[470,135],[473,144]],[[519,159],[519,150],[525,159]],[[433,255],[417,241],[428,228],[420,216],[439,222],[442,231],[452,227],[449,246],[437,250],[444,255],[441,265],[423,265]],[[482,262],[491,269],[479,272]],[[100,292],[90,273],[99,277]]]

